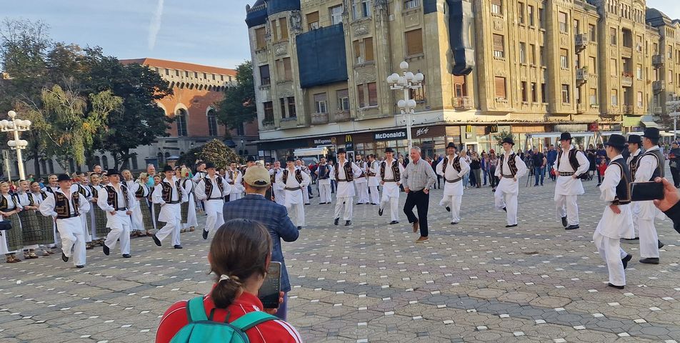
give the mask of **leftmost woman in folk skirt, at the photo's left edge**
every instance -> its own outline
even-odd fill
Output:
[[[5,254],[7,263],[21,262],[16,258],[16,252],[24,249],[24,235],[21,233],[21,220],[17,213],[21,212],[21,205],[16,198],[9,194],[9,182],[0,182],[0,215],[2,220],[11,222],[11,229],[1,231],[0,254]]]

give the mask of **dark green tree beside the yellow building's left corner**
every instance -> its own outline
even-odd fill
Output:
[[[216,104],[217,117],[229,129],[257,119],[253,64],[246,61],[236,67],[236,86],[224,90],[224,99]]]

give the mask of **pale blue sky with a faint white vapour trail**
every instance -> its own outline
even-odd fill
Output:
[[[222,68],[250,59],[246,4],[255,0],[0,0],[0,19],[44,21],[54,41]],[[676,0],[647,0],[680,19]]]

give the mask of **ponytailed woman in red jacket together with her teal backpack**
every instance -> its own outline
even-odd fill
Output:
[[[215,274],[212,291],[173,304],[163,314],[156,343],[302,342],[291,324],[263,312],[257,297],[271,262],[271,237],[262,224],[247,219],[223,224],[208,262]]]

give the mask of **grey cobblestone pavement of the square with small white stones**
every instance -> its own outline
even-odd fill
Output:
[[[552,182],[521,187],[511,229],[489,188],[466,191],[457,225],[434,190],[426,244],[414,243],[403,213],[388,225],[388,213],[356,205],[354,225],[336,227],[333,205],[307,206],[309,227],[284,244],[289,322],[306,342],[680,341],[680,235],[657,226],[666,244],[657,266],[622,243],[634,254],[628,286],[606,287],[591,242],[604,205],[594,182],[585,187],[572,232],[555,219]],[[84,269],[58,254],[0,264],[0,342],[152,342],[170,304],[212,283],[200,231],[182,241],[175,250],[133,239],[132,259],[90,250]]]

